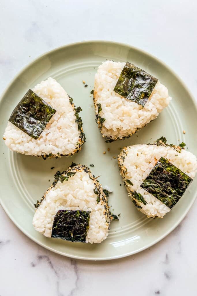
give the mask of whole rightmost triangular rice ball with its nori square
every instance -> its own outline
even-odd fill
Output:
[[[176,205],[196,174],[196,156],[180,146],[155,144],[124,147],[118,164],[134,205],[148,217],[162,218]]]

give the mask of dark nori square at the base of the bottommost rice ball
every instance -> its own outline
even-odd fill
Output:
[[[89,229],[89,211],[59,210],[53,220],[51,237],[85,242]]]

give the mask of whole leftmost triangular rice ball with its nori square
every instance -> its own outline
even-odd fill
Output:
[[[48,78],[29,90],[12,112],[5,144],[13,151],[44,159],[72,155],[85,141],[80,111],[61,85]]]

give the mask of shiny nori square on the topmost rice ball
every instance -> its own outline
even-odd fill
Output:
[[[144,107],[157,81],[144,70],[126,62],[114,91]]]

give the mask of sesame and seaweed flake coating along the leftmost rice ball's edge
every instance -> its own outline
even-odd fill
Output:
[[[76,144],[75,150],[74,150],[74,152],[66,154],[66,155],[59,154],[59,153],[54,155],[54,154],[50,153],[48,155],[42,154],[41,156],[38,156],[40,158],[43,158],[44,160],[46,160],[47,158],[52,158],[52,157],[59,158],[59,157],[62,157],[62,156],[71,156],[71,155],[79,152],[82,149],[82,145],[86,141],[86,137],[85,137],[85,134],[84,134],[84,131],[83,131],[82,118],[79,116],[79,112],[82,111],[82,108],[81,107],[76,108],[76,106],[74,105],[74,102],[73,102],[73,98],[71,98],[70,96],[69,96],[69,102],[70,102],[70,104],[72,105],[72,107],[73,107],[73,109],[75,111],[75,113],[74,113],[74,116],[76,117],[75,122],[77,123],[78,130],[79,130],[79,140],[78,140],[78,142]]]

